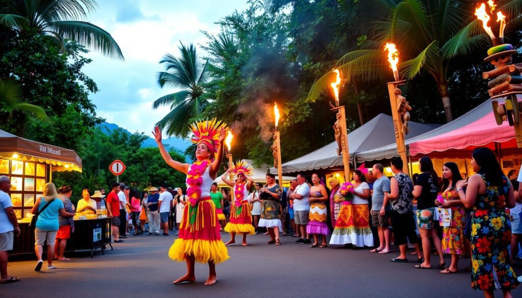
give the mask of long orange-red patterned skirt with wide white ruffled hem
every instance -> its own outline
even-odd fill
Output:
[[[373,235],[370,229],[370,212],[368,205],[352,205],[351,202],[341,203],[339,217],[331,233],[330,244],[364,247],[373,246]]]

